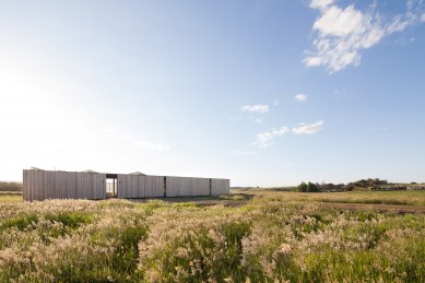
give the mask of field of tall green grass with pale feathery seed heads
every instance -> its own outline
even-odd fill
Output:
[[[0,282],[425,282],[425,191],[0,194]]]

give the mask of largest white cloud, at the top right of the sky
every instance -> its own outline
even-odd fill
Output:
[[[312,26],[316,39],[304,63],[323,66],[330,72],[359,64],[362,50],[377,45],[385,36],[425,22],[423,0],[408,0],[406,12],[390,19],[376,12],[375,5],[361,11],[353,4],[342,8],[333,0],[312,0],[310,8],[319,10],[320,16]]]

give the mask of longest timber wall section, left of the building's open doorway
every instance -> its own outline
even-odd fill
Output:
[[[105,199],[106,174],[24,170],[24,200]]]

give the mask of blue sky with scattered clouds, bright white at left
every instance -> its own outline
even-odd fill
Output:
[[[424,0],[0,0],[0,180],[425,181],[424,80]]]

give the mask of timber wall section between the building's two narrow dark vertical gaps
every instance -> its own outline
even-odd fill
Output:
[[[166,197],[210,196],[209,178],[166,177]]]

